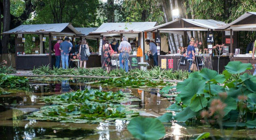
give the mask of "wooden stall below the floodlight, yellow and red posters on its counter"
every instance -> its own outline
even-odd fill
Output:
[[[226,23],[221,21],[216,21],[212,19],[183,19],[179,18],[174,21],[164,23],[159,26],[155,26],[153,28],[145,30],[145,32],[162,32],[162,33],[174,33],[178,35],[184,36],[184,46],[180,47],[187,47],[188,46],[188,38],[187,38],[187,31],[208,31],[209,33],[213,34],[213,30],[220,28],[226,25]],[[214,36],[214,35],[213,35]],[[197,41],[197,40],[195,40]],[[210,41],[209,41],[210,42]],[[214,40],[211,41],[212,43],[207,43],[207,46],[210,45],[212,47]],[[206,47],[207,48],[207,47]],[[177,48],[178,50],[179,48]],[[211,48],[209,48],[211,49]],[[212,57],[212,54],[197,54],[197,59],[195,62],[197,63],[198,69],[202,69],[203,67],[207,67],[209,69],[218,70],[217,69],[217,56]],[[202,59],[205,61],[202,61]],[[223,71],[224,66],[229,62],[228,56],[221,56],[220,57],[220,72]],[[178,54],[167,54],[167,55],[159,55],[158,56],[158,64],[162,69],[183,69],[188,70],[189,64],[185,57],[178,53]]]

